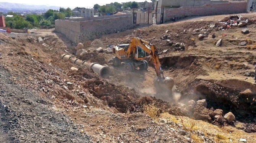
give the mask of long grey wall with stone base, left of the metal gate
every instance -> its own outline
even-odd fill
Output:
[[[126,15],[126,14],[124,14]],[[99,19],[92,21],[55,20],[55,31],[63,33],[75,43],[94,40],[102,35],[118,33],[133,28],[130,16]]]

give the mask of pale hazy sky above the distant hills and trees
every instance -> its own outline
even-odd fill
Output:
[[[61,6],[61,7],[93,7],[94,4],[105,5],[111,2],[130,2],[132,0],[0,0],[0,2],[9,3],[25,3],[31,5],[50,5],[50,6]],[[134,0],[136,1],[136,0]]]

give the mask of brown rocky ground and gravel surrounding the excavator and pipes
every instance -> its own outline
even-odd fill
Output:
[[[229,15],[190,17],[80,48],[52,30],[1,34],[0,142],[256,142],[256,16],[241,15],[243,27],[218,22]],[[147,72],[130,73],[96,50],[131,37],[156,44],[165,76],[175,80],[172,98],[155,93],[149,57]],[[62,60],[64,53],[107,64],[112,73],[102,79]]]

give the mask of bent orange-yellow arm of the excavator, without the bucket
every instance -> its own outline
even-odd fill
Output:
[[[129,48],[127,49],[127,52],[126,52],[129,58],[133,58],[137,47],[143,49],[145,52],[151,55],[151,59],[154,64],[157,77],[164,78],[164,73],[162,71],[161,64],[159,62],[159,55],[158,55],[158,51],[155,44],[151,44],[139,38],[132,38]]]

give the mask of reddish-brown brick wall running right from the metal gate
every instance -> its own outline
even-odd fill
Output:
[[[238,2],[164,9],[164,22],[170,21],[173,17],[246,13],[246,4]]]

